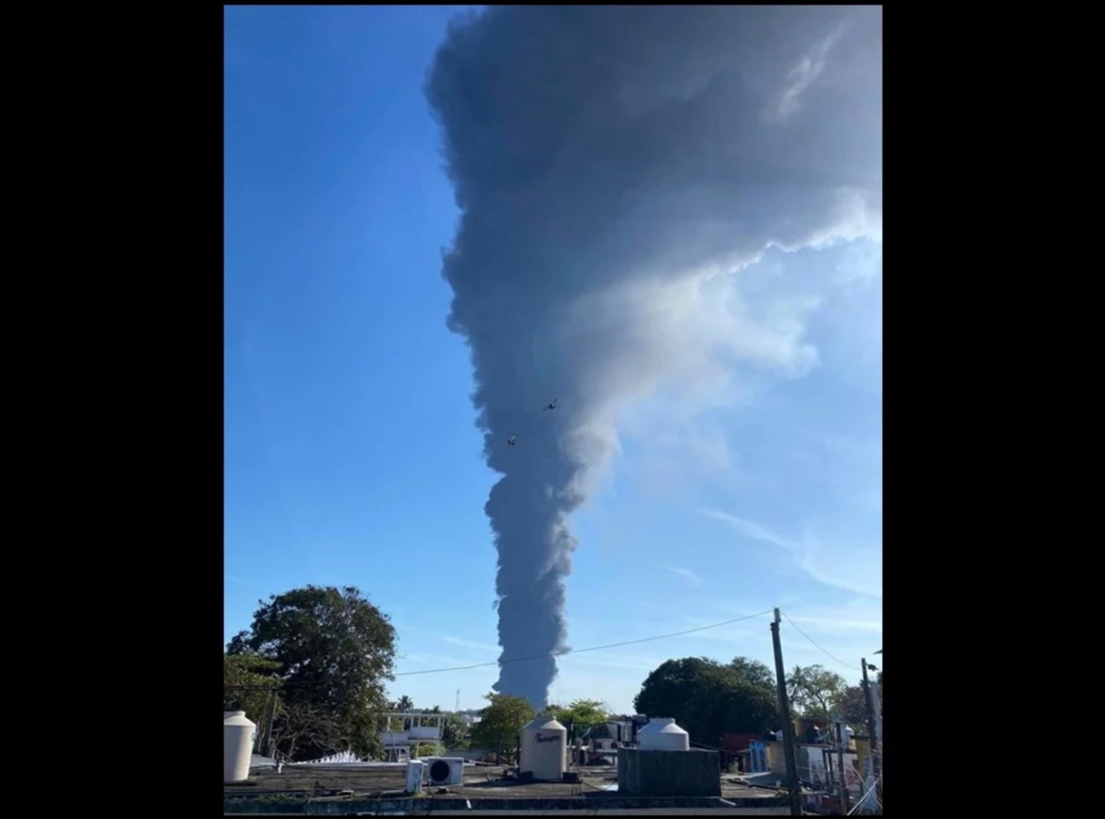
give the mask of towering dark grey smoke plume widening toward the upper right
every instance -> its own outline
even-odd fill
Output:
[[[449,326],[502,474],[495,687],[543,706],[555,660],[508,661],[566,649],[567,516],[617,410],[780,344],[705,321],[704,288],[769,245],[881,238],[882,10],[491,7],[452,22],[427,95],[461,210]]]

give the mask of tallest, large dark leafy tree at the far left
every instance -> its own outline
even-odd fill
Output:
[[[383,683],[392,679],[396,630],[359,589],[306,586],[272,595],[259,601],[250,630],[236,634],[227,653],[276,663],[283,708],[273,734],[283,737],[281,753],[317,758],[336,747],[379,755],[376,720],[387,710]],[[295,724],[307,718],[318,727]]]

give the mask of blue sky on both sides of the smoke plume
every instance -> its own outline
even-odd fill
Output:
[[[422,96],[451,13],[225,10],[228,639],[259,598],[349,584],[394,620],[400,673],[497,654],[494,474],[444,324],[457,213]],[[662,380],[620,412],[621,453],[572,521],[571,645],[779,606],[820,645],[785,622],[788,666],[859,678],[882,644],[881,271],[869,238],[772,249],[706,294],[755,349],[711,390]],[[686,655],[770,664],[768,618],[564,658],[552,697],[629,711]],[[477,707],[496,676],[391,691]]]

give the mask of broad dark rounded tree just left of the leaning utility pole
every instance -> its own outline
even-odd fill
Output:
[[[633,699],[638,713],[675,720],[701,745],[718,746],[729,732],[760,733],[778,722],[771,672],[737,658],[669,660],[653,670]]]

